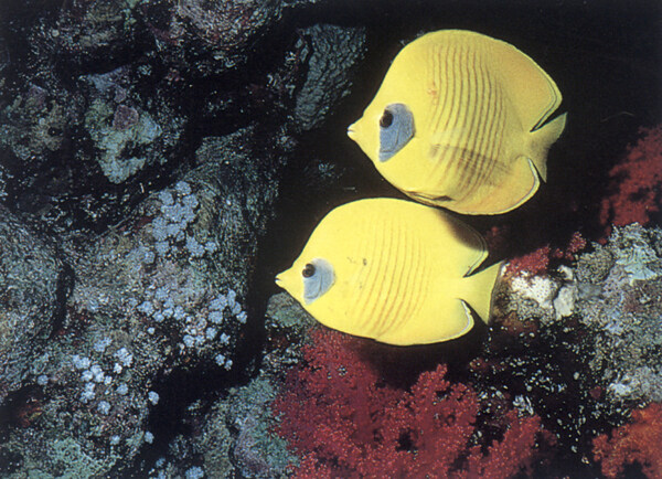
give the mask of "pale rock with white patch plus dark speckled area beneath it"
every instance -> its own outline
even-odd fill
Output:
[[[615,226],[605,245],[538,275],[508,274],[484,352],[472,362],[481,391],[505,391],[543,418],[572,451],[660,402],[662,232]],[[586,249],[586,248],[585,248]]]

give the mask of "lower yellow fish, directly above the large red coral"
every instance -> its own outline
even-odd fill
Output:
[[[474,273],[482,237],[410,201],[360,200],[320,222],[276,283],[321,323],[391,344],[457,338],[488,322],[500,265]]]

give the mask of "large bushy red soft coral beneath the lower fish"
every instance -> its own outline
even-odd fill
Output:
[[[290,370],[273,409],[301,456],[297,477],[512,477],[533,457],[537,417],[503,418],[503,438],[473,445],[479,402],[471,387],[424,372],[409,392],[383,384],[356,339],[313,332],[305,365]]]

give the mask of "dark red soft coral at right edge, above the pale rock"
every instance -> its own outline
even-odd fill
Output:
[[[647,224],[662,200],[662,125],[642,128],[642,137],[610,171],[609,196],[602,200],[600,223]]]

